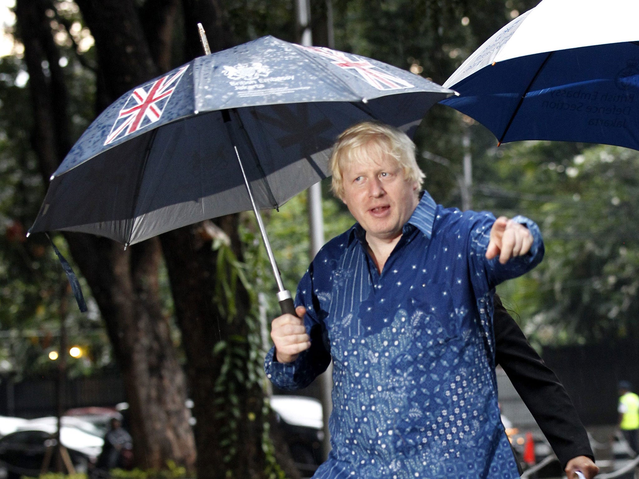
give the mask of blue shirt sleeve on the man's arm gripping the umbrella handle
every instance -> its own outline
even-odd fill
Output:
[[[279,363],[275,358],[275,346],[266,354],[266,377],[278,388],[298,390],[305,388],[323,373],[330,364],[330,343],[325,323],[321,320],[318,298],[313,293],[312,264],[300,281],[295,295],[295,306],[304,306],[304,326],[311,337],[311,347],[298,354],[295,361]]]

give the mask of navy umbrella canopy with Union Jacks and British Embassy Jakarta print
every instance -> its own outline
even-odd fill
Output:
[[[133,244],[208,218],[278,208],[326,178],[345,128],[379,119],[409,134],[452,94],[418,75],[265,36],[194,59],[121,96],[52,176],[31,232]]]

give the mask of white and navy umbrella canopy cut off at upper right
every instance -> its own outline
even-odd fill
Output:
[[[639,149],[638,23],[636,0],[543,0],[466,59],[442,103],[500,142]]]

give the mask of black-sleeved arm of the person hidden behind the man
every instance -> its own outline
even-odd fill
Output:
[[[599,472],[588,434],[566,389],[495,294],[495,363],[500,365],[548,439],[569,479],[581,471],[587,479]]]

